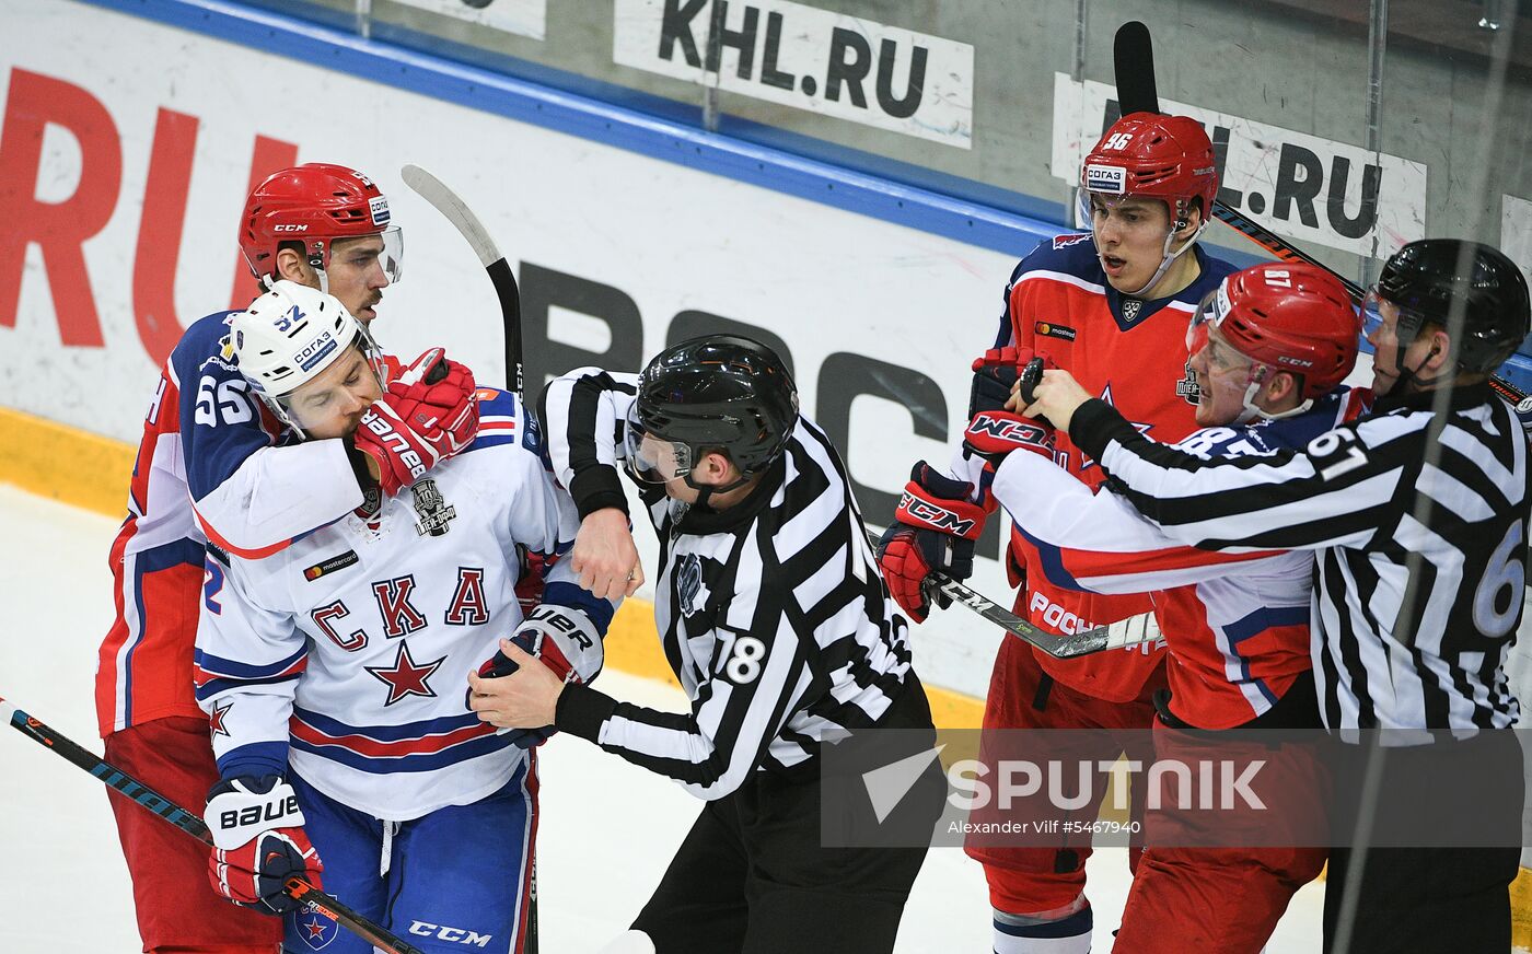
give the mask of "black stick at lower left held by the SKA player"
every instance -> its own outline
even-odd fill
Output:
[[[110,763],[98,758],[90,750],[75,744],[69,738],[64,738],[52,727],[32,718],[26,712],[17,709],[12,703],[0,698],[0,717],[6,717],[11,727],[21,732],[40,746],[47,746],[58,755],[63,755],[74,764],[80,766],[90,775],[95,775],[107,787],[115,789],[121,795],[132,799],[142,809],[153,812],[159,818],[165,819],[172,825],[181,828],[192,838],[196,838],[202,844],[213,847],[213,836],[208,833],[207,825],[201,818],[187,812],[181,805],[175,804],[164,795],[155,792],[149,786],[142,784],[132,775],[127,775],[121,769],[112,766]],[[283,887],[286,896],[308,907],[311,911],[317,911],[325,917],[329,917],[340,926],[346,928],[362,940],[366,940],[374,948],[386,951],[388,954],[423,954],[415,945],[394,937],[381,925],[374,923],[368,917],[352,911],[346,905],[340,903],[332,896],[320,891],[308,880],[302,877],[290,877]]]

